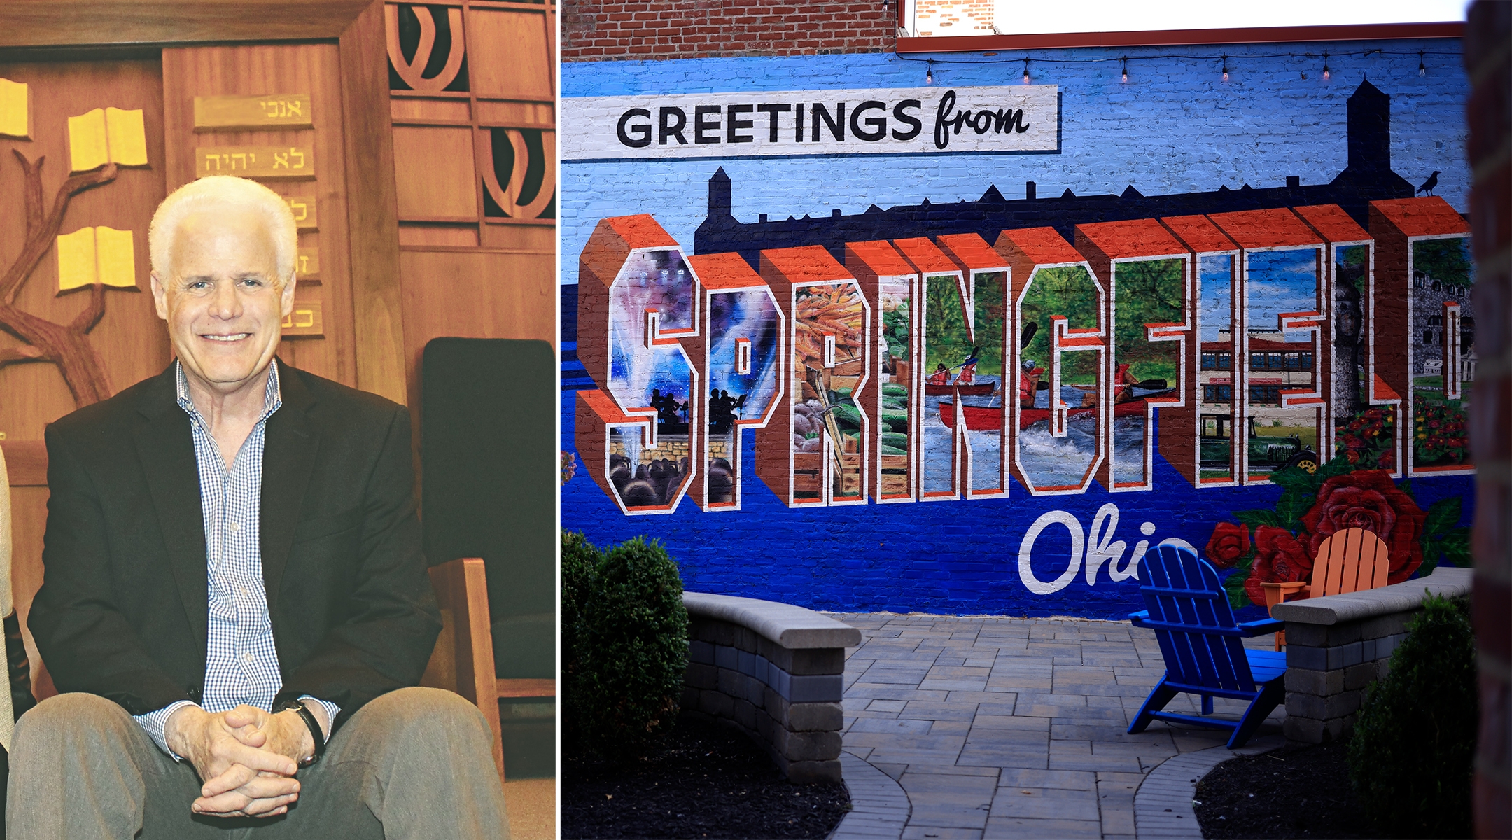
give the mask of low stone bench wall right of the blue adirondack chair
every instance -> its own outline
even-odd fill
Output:
[[[1287,737],[1347,737],[1365,686],[1387,675],[1391,651],[1423,612],[1427,592],[1468,595],[1473,577],[1468,568],[1439,567],[1405,583],[1272,607],[1270,615],[1287,622]]]

